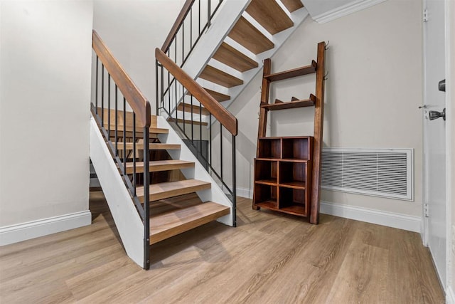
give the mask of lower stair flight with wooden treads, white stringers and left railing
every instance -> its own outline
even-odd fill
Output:
[[[210,221],[235,226],[235,196],[225,195],[163,117],[151,115],[95,31],[93,49],[90,159],[128,256],[148,269],[151,244]]]

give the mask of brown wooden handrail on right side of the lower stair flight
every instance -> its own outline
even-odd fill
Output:
[[[180,82],[232,135],[237,135],[237,118],[220,105],[215,98],[207,93],[193,78],[183,71],[171,58],[159,48],[155,49],[155,57],[166,70]]]

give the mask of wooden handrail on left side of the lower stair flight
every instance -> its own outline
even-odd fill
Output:
[[[107,72],[111,75],[117,88],[122,92],[122,95],[136,114],[139,127],[150,127],[151,109],[149,100],[147,100],[145,96],[142,95],[139,88],[134,85],[127,72],[125,72],[117,59],[114,58],[109,48],[107,48],[95,30],[93,30],[92,48],[95,53],[97,53],[102,64],[105,65]]]

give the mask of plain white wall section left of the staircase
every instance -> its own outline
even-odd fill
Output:
[[[92,1],[0,8],[0,228],[87,211]]]

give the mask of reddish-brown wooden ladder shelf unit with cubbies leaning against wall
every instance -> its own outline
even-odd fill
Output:
[[[252,202],[255,210],[281,211],[319,223],[325,51],[326,43],[320,42],[317,61],[279,73],[271,73],[270,59],[264,61]],[[269,103],[270,83],[311,73],[316,73],[314,95]],[[269,110],[310,106],[314,106],[314,136],[266,137]]]

